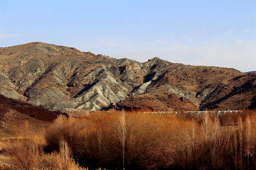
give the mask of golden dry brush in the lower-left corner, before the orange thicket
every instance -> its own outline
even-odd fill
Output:
[[[8,164],[10,169],[63,169],[83,170],[72,159],[72,152],[67,142],[60,141],[60,152],[45,154],[40,138],[19,139],[10,143]],[[11,168],[12,167],[12,168]],[[4,169],[7,169],[5,166]]]

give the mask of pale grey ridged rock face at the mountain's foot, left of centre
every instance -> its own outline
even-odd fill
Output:
[[[99,79],[95,80],[95,78]],[[116,80],[113,74],[104,66],[93,69],[93,71],[90,71],[79,80],[81,83],[92,82],[92,84],[86,85],[72,99],[56,102],[51,104],[49,108],[51,110],[60,110],[61,108],[61,111],[95,111],[108,107],[111,103],[118,103],[129,93],[122,81]],[[54,94],[51,96],[54,96]],[[61,94],[58,94],[58,96],[61,96]],[[64,94],[62,96],[65,97]]]

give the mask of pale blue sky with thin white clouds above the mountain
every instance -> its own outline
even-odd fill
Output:
[[[256,70],[256,0],[0,0],[0,46]]]

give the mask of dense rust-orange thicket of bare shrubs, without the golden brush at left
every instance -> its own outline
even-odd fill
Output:
[[[70,155],[72,148],[74,158],[90,168],[254,169],[255,120],[252,111],[233,117],[135,112],[59,117],[45,133],[45,150]],[[61,141],[70,148],[60,147]]]

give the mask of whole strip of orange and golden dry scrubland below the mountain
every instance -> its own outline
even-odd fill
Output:
[[[113,111],[39,131],[25,122],[2,133],[0,169],[256,169],[255,113]]]

